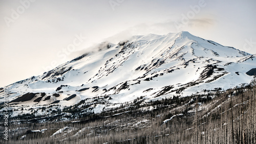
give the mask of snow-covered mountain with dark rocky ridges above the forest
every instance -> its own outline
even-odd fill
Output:
[[[133,36],[98,49],[9,85],[9,109],[24,108],[12,116],[51,113],[42,106],[98,113],[127,102],[228,89],[249,83],[253,76],[246,73],[256,68],[255,55],[188,32]],[[3,90],[0,96],[3,105]]]

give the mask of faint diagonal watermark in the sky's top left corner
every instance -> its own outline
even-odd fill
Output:
[[[23,14],[26,11],[26,9],[28,9],[31,6],[31,3],[35,2],[35,1],[36,0],[20,0],[19,1],[20,6],[18,6],[16,8],[16,10],[11,9],[11,12],[12,12],[11,16],[10,17],[7,17],[7,16],[4,17],[7,27],[10,27],[10,23],[15,22],[15,20],[17,20],[19,18],[19,16],[21,14]]]

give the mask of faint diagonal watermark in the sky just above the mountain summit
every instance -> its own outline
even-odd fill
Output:
[[[186,25],[188,25],[189,21],[191,19],[194,19],[196,14],[199,14],[201,11],[201,8],[204,8],[206,6],[206,2],[205,0],[199,0],[198,1],[198,5],[195,6],[189,6],[190,7],[190,11],[188,11],[186,14],[181,14],[181,22],[174,22],[174,26],[175,28],[180,31],[180,29],[182,27],[185,27]]]

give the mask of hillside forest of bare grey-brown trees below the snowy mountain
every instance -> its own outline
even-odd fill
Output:
[[[255,89],[254,79],[189,97],[150,103],[137,98],[133,104],[66,121],[12,119],[9,140],[1,143],[255,143]]]

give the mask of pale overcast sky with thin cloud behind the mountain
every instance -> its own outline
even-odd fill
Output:
[[[132,35],[188,31],[256,54],[255,7],[254,0],[0,0],[0,87]]]

